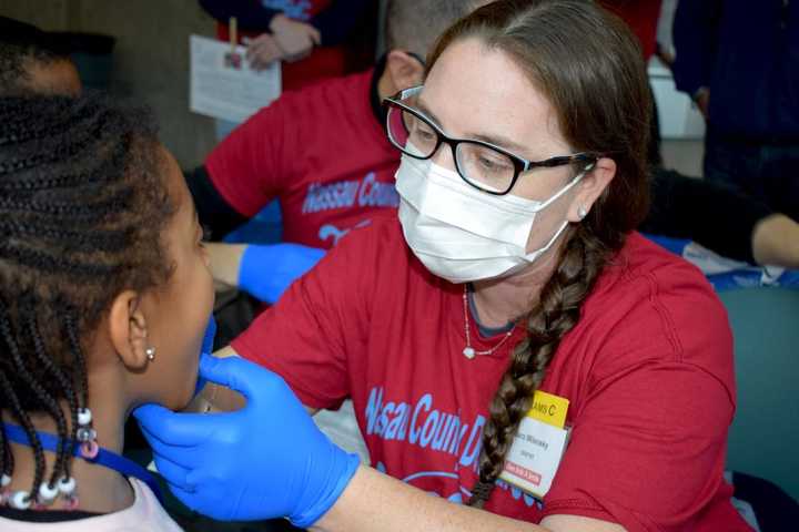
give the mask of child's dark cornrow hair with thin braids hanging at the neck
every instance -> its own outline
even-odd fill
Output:
[[[113,298],[166,282],[174,206],[148,112],[104,96],[0,99],[0,409],[45,461],[30,415],[55,423],[47,482],[70,477],[87,408],[85,346]],[[13,456],[0,428],[0,473]]]

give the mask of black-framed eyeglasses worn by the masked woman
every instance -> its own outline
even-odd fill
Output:
[[[513,190],[524,172],[579,163],[585,163],[587,167],[599,158],[593,153],[575,153],[545,161],[529,161],[489,142],[453,139],[414,108],[422,88],[406,89],[384,100],[388,108],[388,140],[404,154],[421,160],[432,157],[442,144],[449,145],[457,173],[466,183],[483,192],[502,196]]]

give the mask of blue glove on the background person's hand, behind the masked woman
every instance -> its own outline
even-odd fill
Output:
[[[239,266],[239,287],[264,303],[274,304],[324,254],[324,249],[300,244],[251,244],[244,249]]]

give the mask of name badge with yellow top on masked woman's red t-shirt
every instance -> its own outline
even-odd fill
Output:
[[[570,429],[565,429],[569,401],[545,391],[533,396],[533,408],[519,423],[499,478],[543,499],[552,487],[566,450]]]

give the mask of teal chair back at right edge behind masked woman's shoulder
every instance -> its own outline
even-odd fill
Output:
[[[719,297],[735,336],[738,383],[727,468],[799,500],[799,290],[745,288]]]

